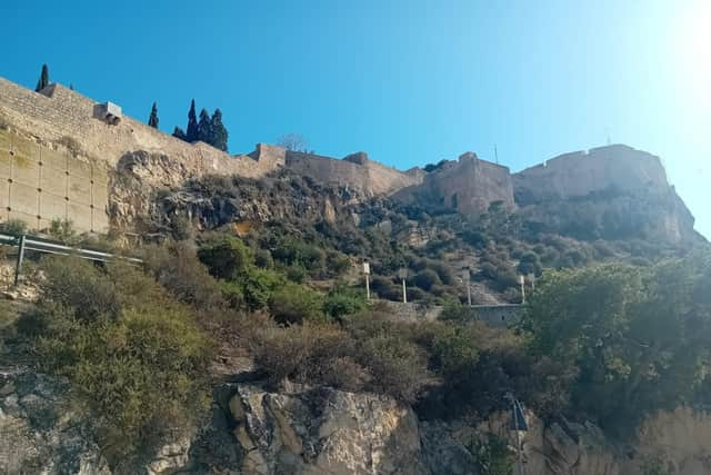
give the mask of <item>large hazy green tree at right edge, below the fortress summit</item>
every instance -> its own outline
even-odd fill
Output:
[[[710,289],[709,255],[550,273],[522,327],[533,354],[577,374],[571,407],[623,434],[697,397],[710,368]]]

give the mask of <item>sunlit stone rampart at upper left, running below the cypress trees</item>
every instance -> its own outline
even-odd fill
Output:
[[[169,156],[188,176],[206,174],[258,177],[277,167],[269,160],[222,152],[204,144],[187,144],[124,116],[117,126],[94,118],[97,102],[60,85],[41,93],[0,78],[0,120],[42,142],[79,144],[82,155],[116,166],[127,152],[147,150]],[[172,186],[178,184],[156,184]]]

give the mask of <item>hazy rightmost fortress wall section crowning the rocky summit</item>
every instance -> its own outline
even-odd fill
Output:
[[[585,196],[608,188],[667,187],[659,157],[615,145],[561,155],[513,176],[517,192],[538,199]]]

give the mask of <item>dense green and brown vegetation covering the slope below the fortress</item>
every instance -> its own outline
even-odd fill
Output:
[[[251,356],[274,388],[289,379],[385,394],[423,419],[479,420],[513,393],[543,418],[588,418],[628,437],[657,410],[711,402],[708,249],[538,232],[500,204],[462,219],[371,200],[353,211],[358,224],[348,212],[327,220],[317,199],[342,206],[333,190],[288,174],[189,187],[211,197],[191,208],[193,221],[166,196],[161,216],[172,218],[151,225],[183,240],[144,248],[142,268],[41,261],[41,299],[20,321],[41,369],[103,415],[114,459],[162,437],[166,420],[203,414],[216,348]],[[246,202],[261,221],[238,215]],[[66,221],[48,231],[80,239]],[[403,238],[412,234],[428,239]],[[441,318],[400,321],[365,303],[354,270],[364,257],[377,296],[399,299],[407,268],[409,297],[443,304]],[[513,301],[518,275],[540,277],[519,326],[467,319],[462,261]],[[477,444],[482,464],[507,469],[497,441]]]

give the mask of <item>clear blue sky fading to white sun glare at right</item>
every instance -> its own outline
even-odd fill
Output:
[[[473,150],[518,171],[623,142],[662,157],[711,237],[711,1],[0,3],[0,76],[160,127],[220,107],[230,151],[298,132],[399,168]]]

